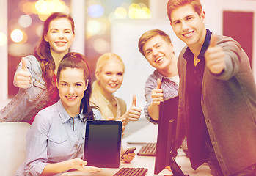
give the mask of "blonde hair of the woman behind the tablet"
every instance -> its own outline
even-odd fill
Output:
[[[125,65],[122,62],[122,59],[120,56],[114,53],[106,53],[101,55],[98,58],[98,61],[96,63],[95,73],[103,70],[103,67],[109,62],[120,63],[123,66],[123,71],[125,71]],[[108,120],[109,117],[114,117],[114,114],[111,111],[111,104],[109,100],[107,100],[102,94],[98,80],[92,83],[92,96],[90,98],[90,102],[92,103],[92,105],[96,105],[100,108],[100,112],[103,120]]]

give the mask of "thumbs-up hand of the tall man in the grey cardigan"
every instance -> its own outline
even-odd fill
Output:
[[[205,51],[205,64],[211,73],[219,74],[224,70],[225,54],[222,47],[217,46],[217,36],[213,34],[211,36],[210,45]]]

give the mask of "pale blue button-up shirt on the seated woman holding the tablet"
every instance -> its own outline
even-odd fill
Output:
[[[100,120],[100,111],[92,111],[94,119]],[[83,111],[74,118],[70,117],[61,100],[40,111],[26,136],[26,161],[15,175],[36,176],[42,174],[47,164],[82,159],[85,140],[83,117]]]

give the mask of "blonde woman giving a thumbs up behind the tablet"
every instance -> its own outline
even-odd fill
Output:
[[[99,57],[96,63],[96,81],[92,84],[92,104],[100,108],[103,120],[125,120],[125,125],[131,120],[139,120],[142,109],[136,107],[136,96],[133,96],[131,108],[126,111],[126,103],[113,94],[122,85],[125,65],[117,54],[106,53]],[[125,150],[122,150],[123,153]],[[131,162],[135,153],[124,156],[125,162]]]

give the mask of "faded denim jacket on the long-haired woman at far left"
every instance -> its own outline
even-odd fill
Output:
[[[40,62],[35,56],[26,56],[26,67],[32,75],[32,86],[19,89],[18,94],[0,111],[0,122],[29,122],[50,100],[45,81],[42,78]],[[18,70],[21,70],[21,62]]]

